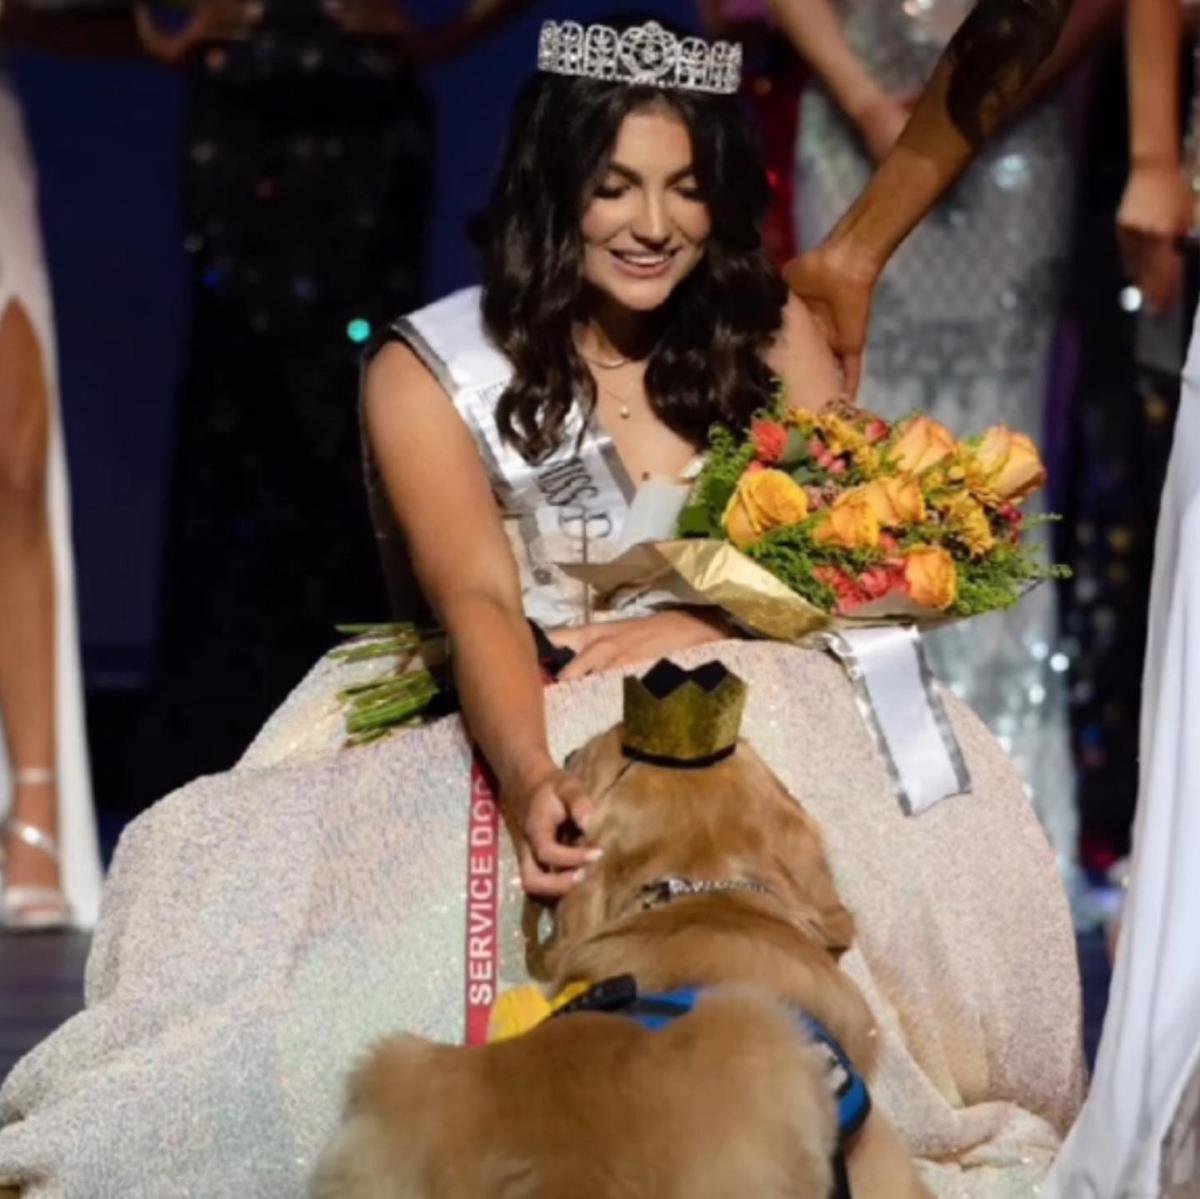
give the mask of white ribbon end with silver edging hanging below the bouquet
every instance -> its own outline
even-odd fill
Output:
[[[854,684],[859,711],[888,765],[901,808],[916,816],[971,791],[920,634],[911,624],[816,634]]]

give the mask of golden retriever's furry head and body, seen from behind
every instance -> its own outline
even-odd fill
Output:
[[[570,768],[605,855],[559,904],[548,993],[634,975],[643,994],[703,988],[698,1003],[659,1031],[575,1012],[481,1048],[390,1039],[355,1074],[312,1195],[827,1199],[838,1116],[796,1012],[868,1078],[875,1030],[838,966],[853,921],[818,828],[745,743],[678,769],[625,757],[618,726]],[[708,886],[670,897],[670,879]],[[846,1162],[853,1199],[929,1194],[877,1110]]]

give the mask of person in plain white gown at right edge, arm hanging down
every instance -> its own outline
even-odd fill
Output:
[[[1118,214],[1151,310],[1175,302],[1192,228],[1180,161],[1180,0],[1132,0],[1133,169]],[[1142,675],[1129,891],[1087,1102],[1046,1185],[1054,1199],[1200,1193],[1200,322],[1163,487]]]

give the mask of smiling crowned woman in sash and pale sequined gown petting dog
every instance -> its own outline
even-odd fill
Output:
[[[616,552],[634,480],[678,475],[713,419],[744,424],[778,379],[808,407],[839,386],[761,251],[727,48],[684,56],[631,25],[628,55],[596,61],[568,32],[544,31],[516,106],[482,288],[398,320],[364,389],[380,535],[449,634],[466,724],[347,749],[335,695],[385,664],[322,663],[235,769],[127,829],[86,1009],[0,1091],[0,1192],[301,1193],[374,1038],[469,1037],[524,981],[522,892],[587,867],[557,834],[590,801],[558,763],[619,718],[622,672],[664,654],[748,681],[744,735],[821,823],[858,925],[842,965],[878,1021],[875,1102],[934,1193],[1027,1193],[1075,1114],[1066,897],[978,719],[944,696],[973,791],[905,815],[830,658],[653,595],[588,623],[558,569],[584,535],[593,560]],[[527,616],[575,652],[547,690]]]

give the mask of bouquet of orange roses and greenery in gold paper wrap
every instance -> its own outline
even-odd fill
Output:
[[[924,415],[780,406],[745,434],[713,428],[677,540],[593,575],[601,589],[682,582],[682,598],[788,639],[835,622],[977,616],[1068,572],[1025,539],[1052,518],[1021,508],[1044,482],[1033,442],[1004,426],[960,442]]]

